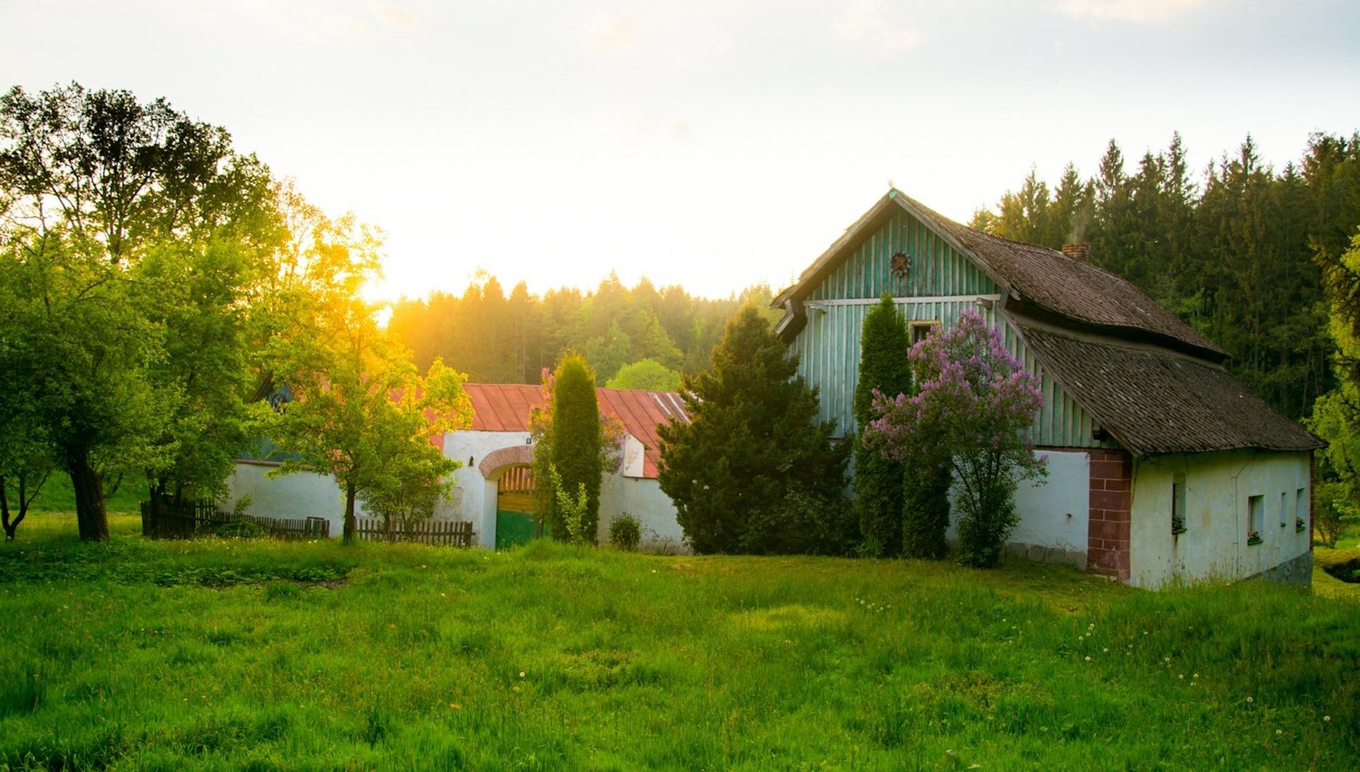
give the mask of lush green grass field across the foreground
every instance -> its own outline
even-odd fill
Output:
[[[1344,769],[1360,606],[532,544],[0,548],[8,769]]]

